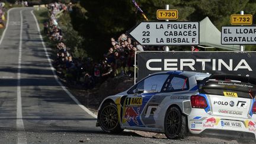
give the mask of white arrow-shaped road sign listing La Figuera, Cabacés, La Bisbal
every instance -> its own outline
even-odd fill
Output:
[[[197,45],[199,22],[142,22],[129,36],[143,45]]]

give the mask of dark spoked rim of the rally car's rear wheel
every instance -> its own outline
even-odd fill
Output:
[[[166,121],[167,132],[170,135],[175,135],[180,126],[180,117],[177,111],[170,111]]]

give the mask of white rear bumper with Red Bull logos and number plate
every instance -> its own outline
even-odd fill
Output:
[[[203,110],[204,111],[204,110]],[[256,119],[213,116],[204,111],[191,111],[188,116],[188,129],[192,134],[212,133],[233,137],[256,138]]]

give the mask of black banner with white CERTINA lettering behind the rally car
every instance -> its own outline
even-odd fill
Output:
[[[256,78],[253,52],[139,52],[137,80],[160,71],[196,71]]]

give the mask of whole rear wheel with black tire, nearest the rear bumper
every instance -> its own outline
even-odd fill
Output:
[[[187,136],[187,117],[179,108],[170,107],[165,114],[164,128],[168,139],[184,139]]]

